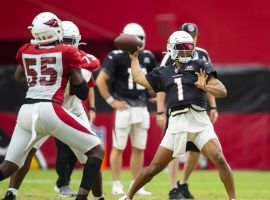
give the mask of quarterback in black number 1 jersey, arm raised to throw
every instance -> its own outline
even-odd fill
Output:
[[[232,171],[206,113],[206,94],[222,98],[227,95],[226,88],[208,62],[192,60],[194,42],[187,32],[174,32],[169,37],[167,51],[174,60],[173,64],[156,68],[146,75],[138,63],[139,51],[130,54],[134,81],[155,92],[165,92],[170,117],[165,136],[150,166],[140,173],[120,200],[132,199],[136,191],[161,172],[174,157],[185,153],[187,141],[192,141],[216,165],[229,199],[235,200]]]

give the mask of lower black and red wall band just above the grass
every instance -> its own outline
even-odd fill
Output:
[[[16,113],[23,102],[25,87],[13,77],[15,66],[0,67],[0,152],[6,149],[16,123]],[[261,66],[219,67],[219,78],[226,85],[228,96],[217,100],[219,120],[215,130],[223,145],[224,154],[234,169],[270,169],[270,70]],[[95,127],[106,143],[106,158],[112,145],[114,114],[96,91],[97,119]],[[145,152],[148,165],[162,139],[156,126],[155,106],[149,105],[151,126]],[[8,139],[7,139],[8,138]],[[55,145],[49,139],[41,151],[48,167],[54,167]],[[124,166],[129,165],[130,143],[124,153]],[[0,154],[1,156],[1,154]],[[2,155],[3,159],[3,155]],[[1,159],[0,159],[1,160]],[[107,163],[108,164],[108,163]],[[208,166],[212,168],[212,165]]]

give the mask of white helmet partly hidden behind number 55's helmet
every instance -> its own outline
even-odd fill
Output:
[[[79,28],[71,21],[62,21],[64,40],[70,39],[71,44],[74,46],[79,46],[81,40],[81,34]]]

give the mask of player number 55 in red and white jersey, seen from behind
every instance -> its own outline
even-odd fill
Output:
[[[100,174],[104,148],[90,130],[88,120],[83,121],[62,107],[69,79],[69,87],[79,99],[88,96],[89,87],[81,72],[81,54],[78,48],[61,44],[62,22],[53,13],[37,15],[30,30],[36,44],[25,44],[19,49],[17,60],[21,67],[15,72],[17,80],[26,78],[28,91],[0,166],[0,180],[21,168],[29,152],[52,135],[68,144],[84,163],[76,200],[86,200]]]

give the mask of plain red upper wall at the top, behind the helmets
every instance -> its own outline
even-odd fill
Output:
[[[14,0],[3,1],[0,13],[0,43],[29,41],[27,27],[43,11],[54,12],[62,20],[74,21],[82,38],[89,41],[89,52],[114,39],[130,22],[140,23],[146,31],[146,48],[156,53],[166,49],[168,36],[184,22],[199,27],[198,46],[207,49],[214,63],[263,63],[270,66],[270,1],[179,1],[137,0],[133,7],[125,0]],[[12,12],[11,12],[12,11]],[[17,49],[16,48],[16,49]],[[114,48],[111,45],[111,48]],[[1,48],[2,49],[2,48]],[[5,51],[1,51],[1,54]],[[107,53],[107,52],[106,52]],[[6,56],[13,56],[13,54]],[[99,57],[100,58],[100,57]]]

